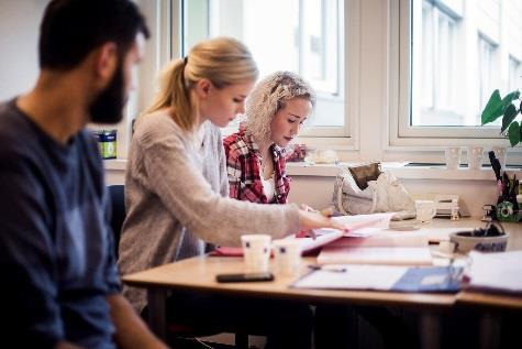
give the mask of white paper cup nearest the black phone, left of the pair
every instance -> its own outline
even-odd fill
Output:
[[[247,272],[264,273],[268,271],[270,241],[271,237],[268,235],[244,235],[241,237]]]

